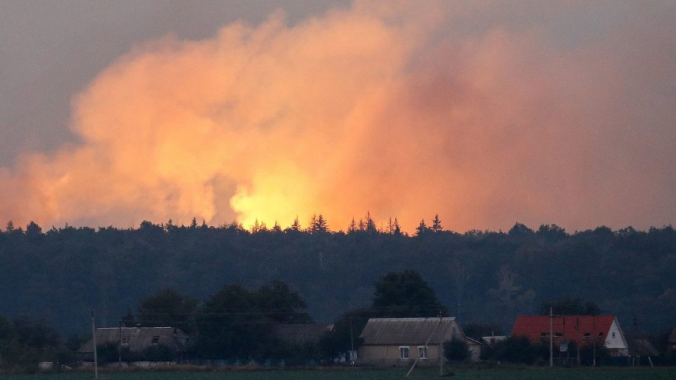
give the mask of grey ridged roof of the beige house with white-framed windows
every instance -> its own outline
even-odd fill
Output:
[[[361,333],[364,345],[440,344],[465,334],[454,317],[370,318]]]

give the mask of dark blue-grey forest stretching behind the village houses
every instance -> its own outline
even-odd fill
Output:
[[[51,228],[31,222],[0,232],[0,315],[40,319],[63,336],[117,327],[151,294],[175,289],[195,300],[225,284],[258,289],[279,280],[315,322],[332,323],[372,305],[375,281],[411,270],[434,289],[444,313],[463,324],[508,332],[516,315],[562,298],[592,301],[618,316],[625,334],[676,325],[676,233],[597,227],[568,233],[555,224],[508,232],[452,232],[438,217],[404,234],[370,215],[334,231],[322,215],[296,222],[212,227],[193,220],[142,222],[137,229]]]

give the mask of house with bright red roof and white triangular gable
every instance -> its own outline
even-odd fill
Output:
[[[549,343],[549,315],[520,315],[514,322],[511,336],[525,336],[531,343]],[[553,343],[575,341],[587,346],[596,340],[612,356],[629,355],[629,345],[614,315],[559,315],[551,318]]]

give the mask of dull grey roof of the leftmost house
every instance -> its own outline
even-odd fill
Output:
[[[169,347],[175,352],[187,349],[189,336],[174,327],[100,327],[96,329],[96,346],[106,343],[127,343],[132,352],[140,352],[154,345]],[[79,353],[93,353],[92,339],[80,346]]]

